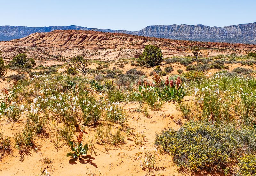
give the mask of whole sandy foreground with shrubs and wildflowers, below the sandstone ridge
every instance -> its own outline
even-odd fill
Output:
[[[196,57],[0,56],[1,174],[255,175],[256,54],[187,49]]]

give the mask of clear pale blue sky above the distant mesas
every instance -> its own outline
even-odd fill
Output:
[[[1,0],[0,26],[85,26],[136,31],[149,25],[256,22],[255,0]]]

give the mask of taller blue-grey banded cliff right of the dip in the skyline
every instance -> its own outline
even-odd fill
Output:
[[[133,34],[177,40],[256,44],[256,23],[226,27],[204,25],[148,26],[133,32]]]

